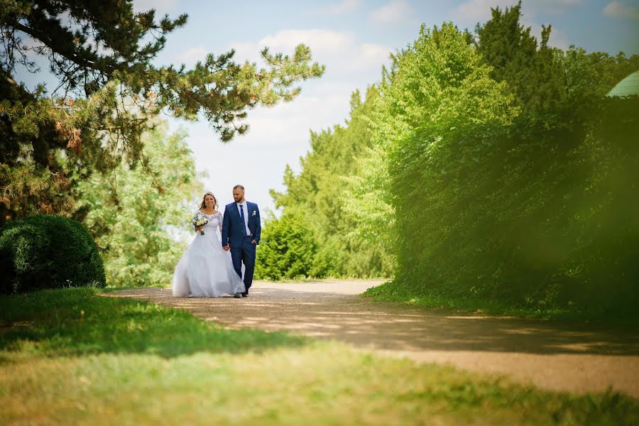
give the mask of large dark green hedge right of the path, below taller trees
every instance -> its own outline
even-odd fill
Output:
[[[423,237],[400,241],[395,283],[412,295],[635,311],[639,101],[594,112],[581,132],[457,132],[436,155],[420,156],[425,135],[411,139],[417,167],[393,170],[405,191],[395,207],[400,229]]]

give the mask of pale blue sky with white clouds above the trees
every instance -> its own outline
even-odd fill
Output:
[[[323,77],[300,84],[302,92],[293,102],[249,111],[248,134],[230,143],[222,143],[204,120],[168,119],[170,129],[182,127],[189,134],[196,168],[207,173],[204,186],[220,204],[232,202],[232,187],[239,183],[263,217],[274,209],[269,190],[284,189],[286,165],[300,171],[300,157],[310,150],[310,131],[344,124],[351,92],[364,93],[377,82],[388,55],[415,40],[422,23],[432,27],[452,21],[473,29],[490,17],[491,7],[513,4],[515,0],[133,1],[136,11],[189,16],[184,27],[168,35],[158,65],[189,67],[207,53],[219,55],[231,48],[236,60],[259,64],[263,47],[292,54],[298,43],[310,46],[313,60],[326,65]],[[550,44],[556,47],[639,53],[639,0],[523,0],[522,9],[523,23],[533,33],[552,24]]]

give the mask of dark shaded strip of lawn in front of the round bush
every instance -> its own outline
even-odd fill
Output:
[[[44,356],[141,353],[173,357],[198,351],[261,351],[302,346],[303,337],[227,330],[184,310],[138,300],[96,297],[92,288],[0,297],[0,350]]]

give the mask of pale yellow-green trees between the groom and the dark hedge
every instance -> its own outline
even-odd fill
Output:
[[[346,124],[311,133],[302,172],[293,175],[287,168],[286,191],[272,192],[284,214],[304,216],[314,231],[318,249],[309,276],[388,276],[393,271],[394,252],[386,234],[393,215],[361,179],[373,148],[368,116],[377,97],[375,87],[368,88],[364,102],[354,92]]]

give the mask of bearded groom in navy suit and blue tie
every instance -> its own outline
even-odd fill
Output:
[[[249,288],[253,283],[255,271],[255,249],[260,244],[262,226],[260,210],[254,202],[244,200],[244,187],[233,187],[233,200],[226,204],[224,221],[222,223],[222,249],[231,251],[233,267],[237,275],[242,276],[244,263],[244,287],[246,291],[242,297],[249,295]],[[239,293],[235,297],[240,297]]]

